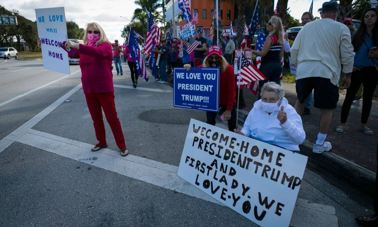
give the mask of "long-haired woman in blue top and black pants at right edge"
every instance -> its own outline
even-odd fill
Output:
[[[378,83],[377,15],[378,11],[375,8],[365,11],[364,17],[361,20],[361,26],[352,37],[352,44],[356,55],[354,58],[352,77],[350,79],[350,87],[347,89],[344,103],[342,103],[341,121],[336,128],[336,131],[339,133],[345,131],[345,124],[350,107],[362,83],[364,86],[364,99],[362,102],[360,130],[368,135],[373,134],[373,131],[366,127],[366,123],[372,108],[373,94]]]

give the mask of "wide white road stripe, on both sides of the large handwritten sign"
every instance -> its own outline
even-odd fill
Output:
[[[141,158],[132,154],[122,157],[118,151],[107,148],[93,152],[90,150],[93,147],[92,144],[74,141],[33,129],[28,130],[16,141],[109,170],[138,181],[147,182],[185,195],[203,199],[204,201],[223,205],[177,176],[178,167],[175,165]],[[337,227],[338,218],[336,216],[335,207],[314,204],[306,199],[297,198],[290,226]]]

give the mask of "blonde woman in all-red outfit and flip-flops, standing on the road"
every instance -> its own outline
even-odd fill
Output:
[[[38,39],[40,46],[40,40]],[[97,23],[88,23],[84,33],[84,44],[67,41],[66,48],[75,48],[77,54],[69,56],[80,58],[81,82],[93,125],[95,126],[98,144],[91,150],[98,151],[108,147],[102,110],[112,128],[112,132],[121,155],[129,154],[122,133],[121,123],[117,117],[114,103],[114,87],[112,74],[112,46],[104,30]]]

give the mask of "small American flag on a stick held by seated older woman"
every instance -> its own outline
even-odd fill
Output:
[[[244,57],[244,54],[241,55],[241,65],[240,57],[237,60],[237,67],[238,69],[239,67],[241,68],[240,74],[237,79],[237,85],[240,86],[240,89],[244,88],[249,82],[256,80],[266,80],[266,77],[260,72],[260,70],[257,69],[256,66],[254,66],[251,62],[249,62],[249,60]]]

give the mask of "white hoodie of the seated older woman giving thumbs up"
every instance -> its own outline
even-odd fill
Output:
[[[301,116],[297,114],[294,107],[289,105],[286,98],[282,99],[280,106],[271,114],[263,111],[261,106],[262,100],[257,100],[252,110],[245,119],[242,133],[245,136],[252,137],[268,144],[277,145],[290,151],[299,151],[299,144],[302,144],[306,138],[303,130]],[[281,110],[287,114],[287,120],[281,124],[277,119],[278,111]]]

